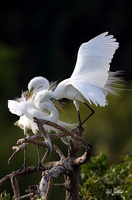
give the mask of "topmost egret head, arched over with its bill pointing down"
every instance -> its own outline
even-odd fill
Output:
[[[28,83],[29,94],[27,99],[31,98],[35,92],[48,88],[49,88],[49,81],[46,78],[38,76],[31,79],[31,81]]]

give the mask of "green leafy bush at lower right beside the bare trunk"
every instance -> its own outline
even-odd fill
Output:
[[[123,163],[108,166],[106,155],[101,154],[82,166],[83,200],[132,199],[132,158],[128,155],[122,158]]]

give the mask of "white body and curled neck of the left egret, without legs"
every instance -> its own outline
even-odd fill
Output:
[[[33,105],[32,102],[27,101],[17,102],[14,100],[9,100],[8,108],[11,113],[20,116],[19,120],[15,124],[23,129],[25,133],[28,129],[31,129],[34,134],[38,132],[38,127],[36,123],[34,123],[33,117],[36,117],[38,119],[50,120],[55,123],[58,122],[58,111],[55,106],[53,106],[49,102],[43,103],[43,109],[48,110],[49,114],[46,112],[42,112],[35,105]],[[45,129],[48,132],[50,132],[51,130],[55,130],[50,126],[45,126]]]

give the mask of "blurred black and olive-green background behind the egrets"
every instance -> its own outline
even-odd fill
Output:
[[[22,89],[26,90],[29,80],[35,76],[44,76],[49,81],[70,77],[81,43],[105,31],[114,35],[120,44],[111,70],[124,70],[125,87],[131,88],[131,21],[132,7],[127,0],[3,2],[0,7],[0,178],[21,167],[23,160],[21,153],[10,165],[7,164],[12,146],[23,137],[22,130],[13,126],[18,117],[9,113],[7,100],[20,96]],[[121,97],[109,97],[108,107],[93,106],[95,116],[89,119],[86,126],[88,134],[84,137],[93,144],[93,155],[107,153],[110,163],[118,162],[121,154],[131,154],[131,95],[131,90],[120,91]],[[85,108],[82,106],[81,109],[85,114]],[[67,118],[71,115],[67,111]],[[71,118],[77,122],[74,107]],[[61,148],[66,152],[62,142]],[[35,150],[31,147],[31,151],[36,153]],[[32,153],[28,156],[29,164],[36,164]],[[51,160],[54,158],[55,153],[52,153]],[[4,185],[3,189],[10,192],[10,184]]]

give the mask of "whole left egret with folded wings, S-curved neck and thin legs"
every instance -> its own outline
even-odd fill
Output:
[[[43,93],[44,93],[44,90],[43,90]],[[34,122],[34,119],[33,119],[34,117],[38,119],[49,120],[51,122],[57,123],[66,128],[67,127],[74,128],[74,124],[68,124],[59,120],[58,110],[53,105],[53,103],[40,102],[41,101],[40,92],[38,92],[36,96],[37,102],[33,101],[32,98],[28,99],[27,101],[26,100],[27,96],[28,96],[27,94],[26,95],[22,94],[22,97],[17,100],[8,100],[9,111],[12,114],[20,116],[19,120],[15,122],[15,125],[17,125],[18,127],[24,130],[25,137],[29,129],[31,129],[34,134],[37,134],[37,132],[39,131],[36,123]],[[50,131],[59,132],[57,129],[48,125],[45,125],[44,128],[46,129],[47,132],[50,132]],[[62,141],[64,142],[64,140]],[[25,154],[26,154],[26,149],[24,149],[24,165],[23,165],[24,169],[26,168]],[[40,164],[39,149],[38,149],[38,166],[40,165],[41,164]]]

